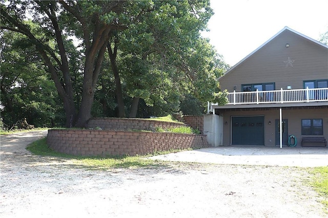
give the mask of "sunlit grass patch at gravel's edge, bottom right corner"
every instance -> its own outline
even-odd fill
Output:
[[[323,197],[322,204],[325,205],[325,212],[328,213],[328,166],[315,167],[312,171],[311,186]]]

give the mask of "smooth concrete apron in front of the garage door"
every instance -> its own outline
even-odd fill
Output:
[[[150,157],[153,160],[216,164],[328,166],[327,147],[220,146]]]

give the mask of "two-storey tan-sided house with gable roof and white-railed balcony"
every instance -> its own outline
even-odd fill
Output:
[[[229,103],[209,104],[218,117],[210,126],[218,124],[216,135],[221,134],[212,137],[212,145],[301,146],[303,137],[328,140],[328,46],[323,43],[285,27],[219,82]]]

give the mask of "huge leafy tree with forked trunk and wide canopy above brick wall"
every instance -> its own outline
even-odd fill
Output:
[[[218,100],[214,92],[219,60],[199,35],[211,15],[209,1],[2,1],[1,29],[30,40],[63,100],[66,126],[85,126],[106,52],[115,75],[120,117],[125,116],[121,78],[134,99],[132,117],[138,99],[163,98],[174,86],[201,100]],[[80,43],[73,55],[67,43],[70,37]],[[120,74],[118,49],[124,55],[121,60],[132,61],[120,67]],[[78,70],[72,71],[76,68],[72,59],[84,61]],[[127,73],[127,69],[132,71]],[[145,81],[152,75],[171,85],[161,96],[154,91],[158,85]]]

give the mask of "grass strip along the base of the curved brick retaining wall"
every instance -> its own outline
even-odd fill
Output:
[[[72,160],[76,165],[82,165],[89,169],[110,169],[110,168],[154,168],[167,166],[165,162],[146,159],[154,155],[169,154],[181,151],[180,149],[169,151],[156,151],[154,154],[145,156],[109,156],[109,157],[85,157],[67,155],[54,151],[47,145],[46,138],[39,139],[29,144],[26,148],[34,155],[50,156]]]

